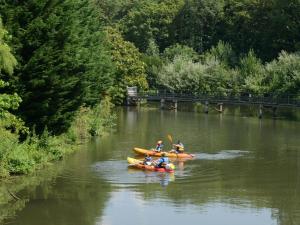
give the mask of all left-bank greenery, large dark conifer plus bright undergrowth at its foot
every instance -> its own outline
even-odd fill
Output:
[[[10,31],[0,22],[1,177],[72,152],[77,118],[88,116],[88,137],[111,127],[115,66],[90,1],[1,1],[0,12]]]

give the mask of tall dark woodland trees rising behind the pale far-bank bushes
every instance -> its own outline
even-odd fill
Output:
[[[102,7],[107,9],[123,2],[122,9],[126,10],[114,10],[118,12],[118,20],[112,21],[143,52],[151,39],[162,51],[179,43],[200,54],[223,40],[238,54],[253,49],[263,61],[276,58],[282,50],[300,50],[300,2],[297,0],[112,2]]]

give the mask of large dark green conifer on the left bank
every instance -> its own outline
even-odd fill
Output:
[[[101,15],[89,0],[10,1],[0,12],[20,62],[20,115],[38,132],[66,131],[78,107],[113,83]]]

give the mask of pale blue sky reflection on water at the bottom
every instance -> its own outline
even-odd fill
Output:
[[[102,224],[206,224],[206,225],[276,225],[272,216],[276,210],[251,206],[236,207],[234,204],[207,203],[201,206],[193,204],[170,204],[160,198],[144,199],[139,193],[119,190],[112,193],[103,217]],[[118,216],[115,215],[118,212]],[[258,222],[259,221],[259,222]]]

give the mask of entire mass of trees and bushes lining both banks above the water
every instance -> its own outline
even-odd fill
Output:
[[[300,98],[298,0],[0,0],[0,16],[2,174],[102,134],[127,86]]]

